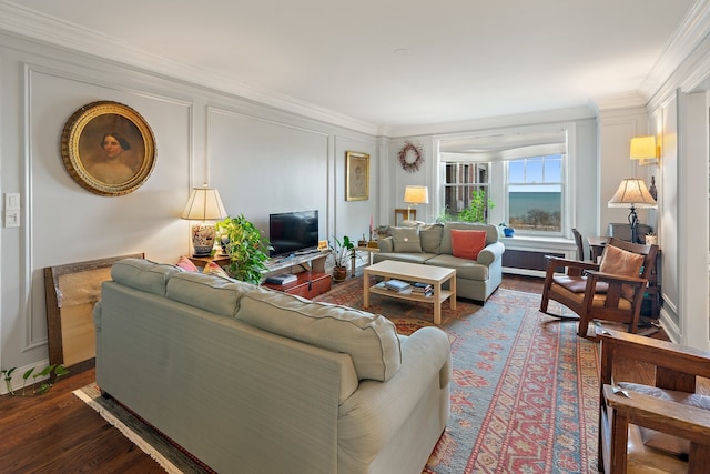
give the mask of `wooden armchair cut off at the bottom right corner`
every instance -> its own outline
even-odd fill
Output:
[[[710,396],[697,389],[710,390],[710,352],[605,329],[597,329],[597,335],[599,470],[709,472]],[[628,374],[639,362],[655,369],[652,386],[618,380],[621,364]]]

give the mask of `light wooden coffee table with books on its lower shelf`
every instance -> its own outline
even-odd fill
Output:
[[[385,280],[402,280],[406,282],[429,283],[434,286],[434,294],[425,296],[410,291],[396,292],[377,285],[371,286],[371,276],[382,276]],[[448,290],[442,290],[442,284],[449,282]],[[385,260],[366,266],[363,270],[363,304],[369,307],[369,294],[376,293],[383,296],[398,297],[408,301],[422,301],[434,304],[434,324],[442,324],[442,303],[448,299],[452,310],[456,310],[456,270],[442,266],[429,266],[419,263],[397,262]]]

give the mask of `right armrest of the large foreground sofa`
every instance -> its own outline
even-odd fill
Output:
[[[367,465],[432,391],[442,391],[440,413],[449,413],[452,349],[438,327],[423,327],[403,340],[402,365],[387,382],[363,381],[339,409],[338,445]],[[429,395],[430,396],[430,395]],[[442,426],[443,427],[443,426]]]

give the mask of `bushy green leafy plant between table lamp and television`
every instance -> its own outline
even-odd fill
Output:
[[[216,223],[224,250],[230,255],[230,274],[241,281],[260,284],[268,260],[268,242],[262,231],[241,214]]]

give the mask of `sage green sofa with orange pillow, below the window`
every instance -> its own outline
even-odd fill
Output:
[[[486,232],[486,243],[476,260],[454,256],[452,229]],[[373,262],[397,260],[456,269],[456,295],[485,303],[503,281],[503,253],[498,228],[479,222],[445,222],[390,228],[390,236],[378,239]]]

